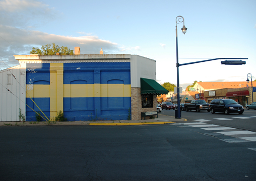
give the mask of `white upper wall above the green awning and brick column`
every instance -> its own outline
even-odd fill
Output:
[[[156,61],[131,55],[131,87],[141,87],[141,78],[156,80]]]

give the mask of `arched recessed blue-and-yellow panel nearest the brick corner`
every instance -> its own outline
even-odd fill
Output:
[[[107,81],[107,106],[108,108],[124,108],[123,80],[112,79]]]

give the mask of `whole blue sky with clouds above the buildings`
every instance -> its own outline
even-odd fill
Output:
[[[179,67],[183,89],[197,81],[256,79],[256,1],[0,0],[0,70],[18,64],[13,55],[55,43],[81,54],[132,54],[156,60],[159,83],[177,85],[179,63],[248,58],[245,65],[221,60]],[[225,59],[223,59],[225,60]]]

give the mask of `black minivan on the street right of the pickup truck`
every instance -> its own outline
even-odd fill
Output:
[[[215,99],[210,103],[211,113],[223,112],[226,115],[229,113],[243,114],[243,107],[231,99]]]

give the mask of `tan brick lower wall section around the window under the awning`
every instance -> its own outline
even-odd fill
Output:
[[[131,88],[132,95],[131,95],[131,104],[132,104],[132,120],[141,120],[141,113],[142,112],[151,112],[156,111],[156,104],[157,99],[156,95],[153,97],[153,108],[142,108],[141,105],[141,88]],[[156,117],[156,116],[155,116]],[[146,119],[149,119],[150,117],[146,117]]]

